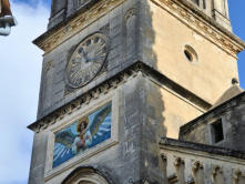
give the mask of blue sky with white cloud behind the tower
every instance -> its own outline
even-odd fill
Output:
[[[18,27],[0,37],[0,184],[27,184],[35,121],[42,51],[32,44],[47,29],[50,0],[12,0]],[[229,0],[235,34],[245,40],[245,1]],[[241,85],[245,89],[245,51],[238,54]]]

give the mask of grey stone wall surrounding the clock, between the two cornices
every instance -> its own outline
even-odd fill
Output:
[[[109,14],[88,25],[85,30],[44,55],[38,119],[75,99],[137,60],[137,3],[136,0],[130,0],[116,7]],[[96,31],[103,32],[110,41],[110,52],[104,72],[86,86],[67,92],[64,70],[72,48],[86,35]],[[48,65],[52,65],[53,69],[50,70]]]

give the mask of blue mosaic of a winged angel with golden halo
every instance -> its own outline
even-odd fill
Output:
[[[111,103],[55,133],[53,167],[111,137]]]

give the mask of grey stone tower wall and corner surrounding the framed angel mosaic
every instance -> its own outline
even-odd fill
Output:
[[[116,102],[116,106],[119,106],[119,143],[93,155],[91,160],[88,159],[71,168],[65,168],[61,174],[45,181],[47,184],[61,183],[73,170],[82,165],[104,168],[116,181],[116,184],[132,182],[141,184],[145,178],[162,183],[163,172],[161,171],[159,142],[166,130],[163,125],[164,104],[159,100],[161,99],[159,88],[153,85],[147,78],[143,78],[140,72],[137,76],[130,78],[126,83],[120,85],[115,92],[119,95]],[[51,129],[53,127],[55,124],[44,132],[35,134],[30,184],[43,183],[43,172],[48,166],[44,163],[52,162],[50,156],[53,150],[47,150],[48,143],[43,140],[47,135],[52,134]],[[43,155],[48,155],[48,157]],[[39,163],[39,160],[42,164]],[[35,170],[39,166],[41,166],[40,170]]]

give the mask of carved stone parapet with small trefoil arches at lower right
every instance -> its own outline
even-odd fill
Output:
[[[171,139],[163,139],[160,145],[170,182],[193,183],[201,178],[198,184],[243,182],[245,152]],[[184,170],[180,171],[181,166]],[[181,180],[176,177],[177,172],[183,176]]]

